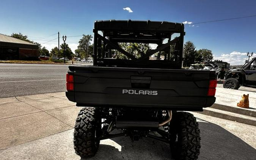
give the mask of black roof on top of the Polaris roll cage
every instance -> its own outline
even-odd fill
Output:
[[[141,20],[97,20],[94,31],[102,31],[111,41],[159,43],[173,33],[184,35],[184,24]]]

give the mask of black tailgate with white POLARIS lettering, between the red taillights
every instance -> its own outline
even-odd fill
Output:
[[[77,106],[154,107],[201,110],[214,71],[69,66],[74,92],[66,92]]]

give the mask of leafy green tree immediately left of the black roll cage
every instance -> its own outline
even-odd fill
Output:
[[[88,52],[92,39],[93,36],[91,35],[83,35],[83,38],[80,39],[77,47],[80,50],[80,55],[83,55],[86,58],[93,55],[92,53]]]

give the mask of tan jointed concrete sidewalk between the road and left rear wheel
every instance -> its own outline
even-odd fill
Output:
[[[0,99],[0,150],[74,127],[80,108],[64,92]]]

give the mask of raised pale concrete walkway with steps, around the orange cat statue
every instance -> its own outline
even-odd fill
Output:
[[[249,94],[248,109],[237,107],[243,94]],[[217,88],[215,97],[215,104],[198,113],[256,126],[256,92]]]

